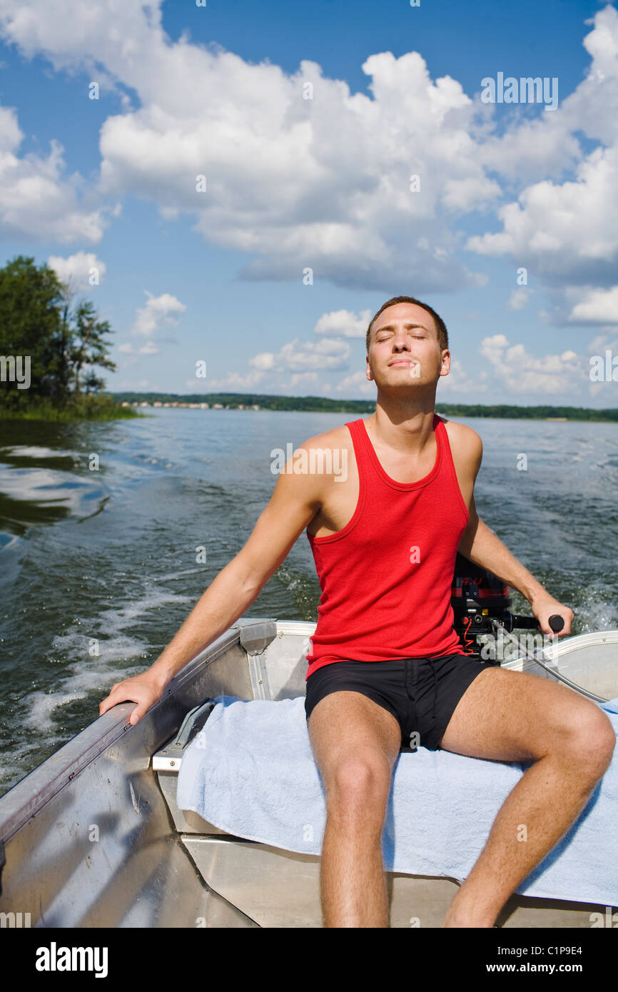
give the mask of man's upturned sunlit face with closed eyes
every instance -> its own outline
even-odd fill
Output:
[[[377,386],[436,383],[449,368],[450,352],[440,351],[433,316],[416,304],[382,310],[371,328],[367,379]]]

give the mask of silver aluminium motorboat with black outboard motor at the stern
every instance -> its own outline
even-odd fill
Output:
[[[535,618],[508,611],[508,587],[459,556],[451,602],[455,629],[479,651],[492,624],[507,633],[524,621],[537,627]],[[129,723],[135,703],[116,705],[13,786],[0,799],[4,926],[321,927],[318,856],[234,836],[176,802],[184,749],[215,697],[304,695],[314,630],[303,621],[239,619],[136,726]],[[496,664],[614,699],[618,630],[560,638]],[[424,927],[441,927],[456,879],[386,877],[391,927],[410,928],[413,907]],[[607,907],[514,894],[497,926],[589,928],[592,914],[605,919]]]

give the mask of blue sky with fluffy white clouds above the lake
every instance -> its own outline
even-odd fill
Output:
[[[109,321],[108,390],[373,400],[401,295],[437,401],[618,407],[615,3],[198,4],[0,0],[0,266]]]

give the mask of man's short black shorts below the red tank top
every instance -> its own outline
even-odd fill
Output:
[[[388,662],[346,659],[316,669],[306,682],[305,712],[330,692],[361,692],[388,709],[399,722],[402,749],[438,749],[439,741],[466,688],[499,662],[476,662],[466,655],[403,658]]]

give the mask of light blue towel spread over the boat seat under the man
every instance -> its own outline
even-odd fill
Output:
[[[618,732],[618,698],[601,708]],[[401,753],[382,834],[385,869],[463,881],[498,809],[531,764],[424,747]],[[217,696],[185,750],[177,802],[236,836],[319,854],[326,807],[309,744],[305,697]],[[516,892],[617,906],[617,821],[615,753],[585,809]]]

